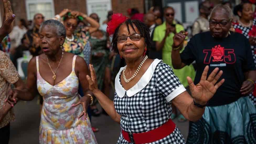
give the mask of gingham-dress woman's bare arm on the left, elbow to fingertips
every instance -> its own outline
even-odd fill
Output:
[[[95,73],[95,70],[93,68],[93,65],[89,64],[89,67],[90,67],[91,77],[89,75],[87,75],[86,77],[87,77],[87,80],[89,82],[90,90],[93,92],[95,97],[97,97],[98,102],[100,103],[102,108],[106,111],[106,113],[108,113],[108,115],[115,122],[120,124],[121,116],[116,112],[115,107],[114,107],[114,102],[112,100],[110,100],[104,93],[102,93],[98,89],[96,73]]]

